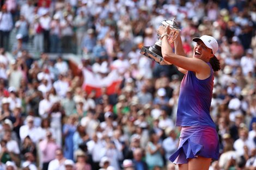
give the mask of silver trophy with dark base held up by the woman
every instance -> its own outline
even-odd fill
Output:
[[[168,38],[169,44],[172,44],[180,32],[180,26],[176,23],[175,17],[173,18],[173,20],[163,20],[161,22],[161,26],[164,26],[164,27],[169,26],[167,38]],[[161,45],[162,45],[161,35],[157,34],[157,39],[158,39],[158,41],[155,42],[155,44],[153,46],[142,47],[141,54],[147,56],[151,60],[153,60],[161,65],[170,64],[167,62],[162,62],[163,56],[162,56],[162,52],[161,52]]]

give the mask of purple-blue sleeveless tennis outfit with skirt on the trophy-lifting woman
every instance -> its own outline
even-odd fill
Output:
[[[208,63],[211,67],[211,65]],[[175,164],[188,163],[188,159],[203,156],[218,160],[218,135],[210,116],[214,73],[200,80],[188,71],[181,81],[176,126],[182,127],[178,150],[169,160]]]

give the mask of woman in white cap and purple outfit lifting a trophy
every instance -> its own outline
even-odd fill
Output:
[[[160,26],[157,33],[161,35],[163,64],[173,64],[185,74],[176,117],[176,126],[181,127],[180,143],[169,160],[178,164],[180,170],[208,170],[211,160],[217,160],[219,153],[218,135],[210,116],[214,71],[220,70],[215,56],[218,43],[212,36],[196,37],[193,56],[188,58],[180,35],[173,40],[173,53],[170,26]]]

